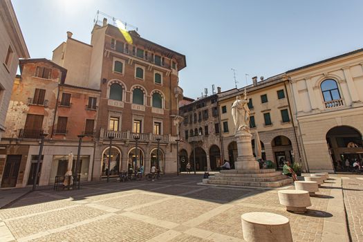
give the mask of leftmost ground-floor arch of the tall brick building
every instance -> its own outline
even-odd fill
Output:
[[[121,169],[121,151],[117,147],[111,147],[111,160],[109,169],[109,155],[110,148],[107,147],[102,152],[102,162],[101,162],[101,176],[107,176],[110,171],[110,176],[118,176]]]

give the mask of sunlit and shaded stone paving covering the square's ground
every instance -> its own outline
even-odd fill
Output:
[[[294,241],[344,241],[342,185],[352,239],[363,241],[363,180],[355,176],[331,176],[306,214],[286,212],[278,189],[203,186],[201,178],[183,174],[32,192],[0,210],[0,241],[243,241],[245,212],[286,216]]]

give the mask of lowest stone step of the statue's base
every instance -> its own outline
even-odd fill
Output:
[[[210,185],[232,185],[241,187],[282,187],[292,183],[292,178],[285,178],[272,182],[253,182],[253,181],[236,181],[236,180],[210,180],[203,179],[203,184]]]

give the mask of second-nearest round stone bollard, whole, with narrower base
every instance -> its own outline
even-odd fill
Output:
[[[295,213],[306,212],[306,207],[311,206],[310,196],[308,191],[301,190],[280,190],[279,201],[281,205],[286,206],[286,210]]]

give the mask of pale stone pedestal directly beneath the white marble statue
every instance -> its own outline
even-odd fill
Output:
[[[238,157],[234,162],[236,170],[259,170],[259,162],[253,156],[251,138],[252,134],[248,131],[239,131],[236,133],[236,142]]]

